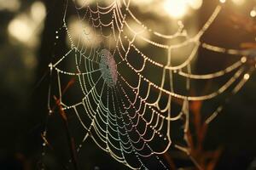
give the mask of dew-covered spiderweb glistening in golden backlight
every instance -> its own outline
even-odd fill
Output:
[[[247,51],[219,48],[202,42],[201,37],[218,18],[218,5],[193,37],[189,37],[182,21],[172,35],[162,34],[145,26],[131,10],[130,0],[90,3],[84,0],[68,2],[63,14],[63,26],[56,31],[67,34],[70,46],[65,54],[49,64],[51,75],[57,75],[58,97],[63,111],[74,114],[88,138],[108,152],[116,161],[132,169],[168,169],[161,161],[171,146],[189,155],[186,132],[189,129],[189,102],[209,100],[224,94],[236,94],[247,82],[253,68],[247,68]],[[73,8],[79,26],[67,22],[67,8]],[[135,28],[136,25],[136,28]],[[149,35],[149,36],[148,36]],[[179,42],[171,43],[174,39]],[[143,48],[140,42],[147,45]],[[148,48],[151,48],[148,53]],[[177,50],[189,48],[183,61],[174,64]],[[216,54],[240,56],[218,71],[193,73],[192,63],[199,48]],[[68,66],[67,66],[68,63]],[[195,82],[215,80],[229,75],[218,87],[201,95],[191,95]],[[63,92],[67,80],[72,87]],[[179,81],[177,81],[179,80]],[[72,89],[74,88],[74,90]],[[68,95],[70,91],[70,95]],[[49,86],[49,112],[52,92]],[[73,96],[73,100],[69,98]],[[173,105],[179,103],[179,111]],[[218,106],[206,122],[218,116]],[[181,122],[183,142],[172,139],[172,123]]]

